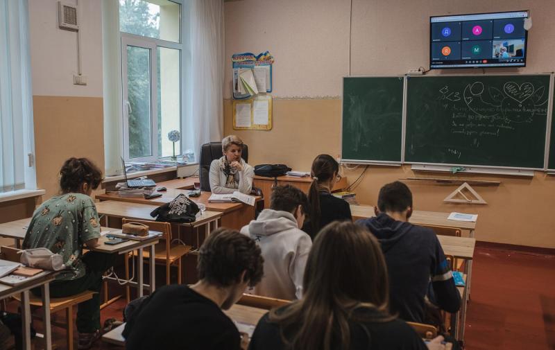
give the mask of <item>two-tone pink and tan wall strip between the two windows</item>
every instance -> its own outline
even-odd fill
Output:
[[[80,0],[78,8],[84,86],[73,84],[77,34],[58,28],[58,1],[29,1],[35,159],[43,199],[58,192],[65,159],[88,157],[104,168],[101,1]]]

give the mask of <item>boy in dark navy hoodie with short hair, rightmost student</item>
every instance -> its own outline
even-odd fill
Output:
[[[436,234],[409,223],[412,211],[411,190],[396,181],[379,190],[376,216],[358,220],[357,224],[370,229],[382,245],[389,274],[391,312],[405,321],[423,322],[430,281],[434,302],[442,310],[458,311],[461,297]]]

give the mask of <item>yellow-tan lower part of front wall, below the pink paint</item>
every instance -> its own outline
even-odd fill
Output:
[[[237,134],[249,146],[249,163],[283,163],[295,170],[310,170],[319,153],[334,157],[341,152],[341,100],[273,100],[273,129],[233,130],[232,102],[224,101],[225,134]],[[352,183],[364,166],[344,175]],[[449,177],[497,180],[499,186],[475,186],[487,205],[444,204],[456,186],[434,182],[406,182],[413,191],[414,207],[426,211],[478,213],[476,238],[488,242],[555,248],[555,176],[536,172],[533,178],[494,175],[441,175],[413,173],[410,166],[369,166],[357,187],[359,204],[375,204],[379,188],[404,177]]]

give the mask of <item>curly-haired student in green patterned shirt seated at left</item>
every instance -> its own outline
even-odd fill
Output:
[[[100,292],[102,275],[114,263],[113,254],[87,252],[83,244],[98,245],[100,219],[89,196],[102,181],[102,172],[89,159],[70,158],[60,170],[60,195],[35,210],[23,242],[24,249],[45,247],[63,257],[65,270],[50,286],[51,297],[69,297],[85,290]],[[40,294],[40,290],[33,290]],[[100,337],[100,297],[78,305],[78,349],[89,349]]]

